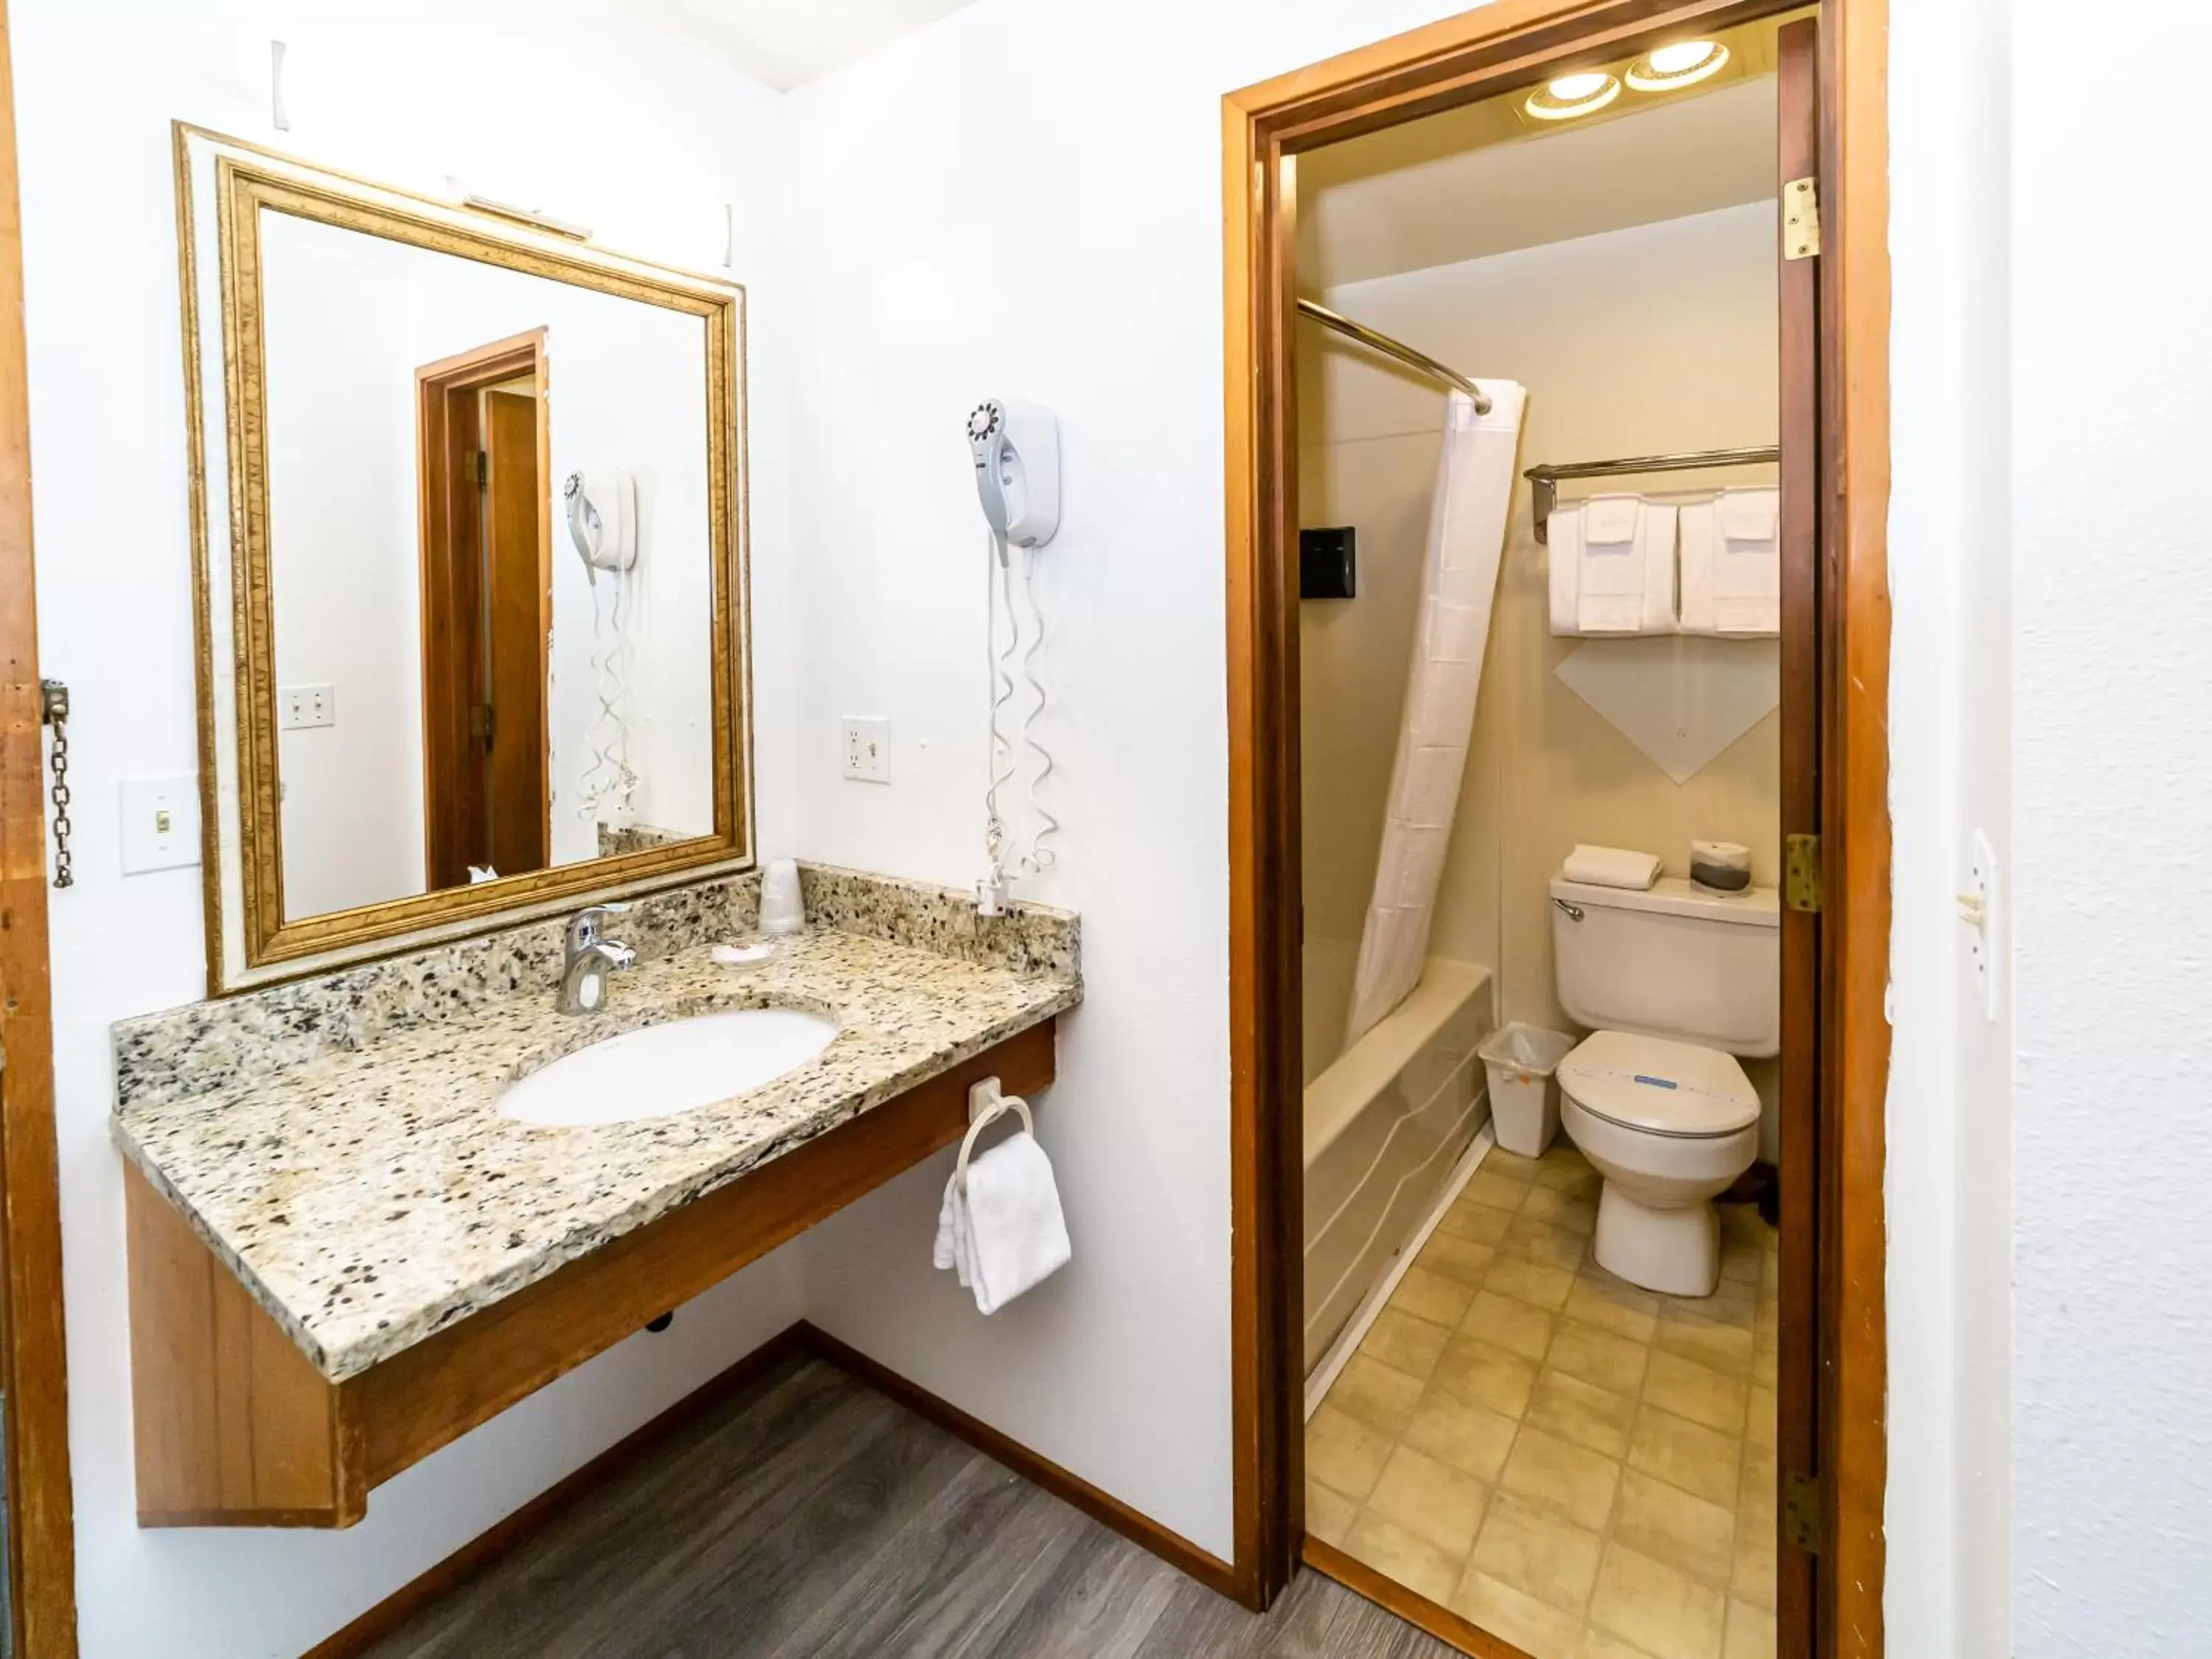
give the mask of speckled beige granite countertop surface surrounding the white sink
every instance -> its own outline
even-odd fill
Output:
[[[557,1013],[540,980],[274,1068],[204,1064],[190,1086],[148,1086],[159,1051],[122,1026],[113,1135],[336,1383],[1075,1006],[1073,918],[1040,914],[1068,938],[1042,973],[827,927],[730,969],[695,936],[615,975],[604,1013]],[[223,1006],[190,1011],[195,1042],[199,1009]],[[602,1037],[759,1006],[825,1013],[838,1035],[677,1117],[538,1128],[495,1110],[513,1079]]]

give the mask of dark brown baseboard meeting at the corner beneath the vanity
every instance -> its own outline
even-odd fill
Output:
[[[993,1458],[995,1462],[1004,1464],[1013,1473],[1029,1480],[1033,1486],[1042,1486],[1062,1502],[1073,1504],[1075,1509],[1091,1515],[1091,1520],[1110,1526],[1133,1544],[1148,1548],[1168,1566],[1188,1573],[1206,1588],[1217,1590],[1230,1599],[1243,1599],[1237,1593],[1234,1568],[1219,1555],[1210,1555],[1208,1551],[1201,1551],[1197,1544],[1192,1544],[1188,1537],[1170,1533],[1150,1515],[1137,1513],[1119,1498],[1110,1498],[1108,1493],[1093,1486],[1082,1475],[1068,1473],[1048,1458],[1040,1458],[1022,1442],[1000,1433],[989,1422],[971,1418],[967,1411],[962,1411],[949,1400],[938,1398],[918,1383],[909,1383],[898,1371],[883,1365],[880,1360],[872,1360],[867,1354],[852,1347],[849,1343],[841,1343],[838,1338],[830,1336],[816,1325],[799,1321],[794,1325],[785,1325],[781,1332],[770,1336],[765,1343],[761,1343],[757,1349],[745,1354],[734,1365],[710,1376],[706,1383],[686,1394],[672,1407],[668,1407],[657,1418],[626,1433],[622,1440],[611,1444],[591,1462],[562,1475],[542,1493],[526,1500],[502,1520],[493,1522],[489,1528],[471,1537],[467,1544],[462,1544],[458,1551],[453,1551],[442,1562],[431,1566],[427,1573],[396,1588],[392,1595],[372,1606],[367,1613],[347,1624],[343,1630],[323,1637],[319,1644],[307,1648],[307,1652],[303,1652],[301,1659],[356,1659],[358,1655],[367,1652],[387,1635],[407,1624],[407,1619],[411,1619],[425,1606],[429,1606],[440,1595],[451,1590],[456,1584],[462,1584],[473,1573],[482,1573],[502,1555],[526,1542],[531,1533],[546,1526],[546,1522],[551,1522],[562,1509],[584,1498],[595,1486],[602,1486],[615,1475],[619,1475],[628,1464],[633,1464],[655,1444],[666,1440],[670,1433],[692,1422],[701,1413],[710,1411],[712,1407],[721,1405],[728,1396],[737,1394],[741,1387],[759,1378],[770,1367],[799,1354],[810,1354],[827,1365],[838,1367],[856,1383],[863,1383],[876,1389],[878,1394],[896,1400],[898,1405],[907,1407],[909,1411],[914,1411],[914,1416],[927,1418],[947,1433],[967,1440],[987,1458]],[[1354,1562],[1354,1566],[1358,1564]],[[1354,1584],[1352,1588],[1358,1586]],[[1360,1593],[1365,1595],[1365,1590]],[[1420,1621],[1416,1619],[1416,1624]],[[1471,1648],[1469,1652],[1478,1652],[1480,1659],[1517,1659],[1513,1648],[1482,1648],[1482,1650]]]

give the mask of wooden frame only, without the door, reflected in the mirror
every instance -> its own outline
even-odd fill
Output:
[[[447,398],[453,392],[482,392],[502,380],[513,380],[520,374],[529,374],[538,387],[538,591],[542,595],[540,626],[538,626],[538,684],[544,688],[538,701],[538,752],[551,754],[551,639],[553,639],[553,511],[549,507],[546,482],[553,476],[553,411],[546,403],[546,330],[533,327],[522,334],[509,334],[502,341],[489,341],[484,345],[469,347],[467,352],[456,352],[453,356],[438,358],[436,363],[425,363],[416,369],[416,511],[420,520],[420,606],[422,606],[422,874],[431,889],[438,889],[438,801],[440,801],[440,776],[453,765],[453,732],[440,734],[438,710],[440,701],[431,697],[431,686],[438,677],[438,666],[449,666],[451,646],[442,646],[447,639],[442,617],[434,604],[436,588],[431,582],[434,566],[438,564],[438,551],[451,544],[451,524],[447,522],[447,502],[451,498],[451,445],[447,442]],[[484,434],[478,434],[482,445]],[[482,602],[482,595],[478,595]],[[467,748],[467,719],[462,719],[458,737],[460,748]],[[542,770],[540,785],[540,818],[544,821],[544,847],[546,867],[553,863],[553,779]],[[451,785],[445,785],[447,796],[451,796]],[[513,872],[502,872],[513,874]],[[467,876],[462,876],[467,880]],[[460,883],[451,883],[460,885]]]

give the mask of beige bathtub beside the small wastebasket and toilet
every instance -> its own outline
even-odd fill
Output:
[[[1310,942],[1327,949],[1321,940]],[[1314,962],[1334,982],[1334,960]],[[1349,989],[1349,987],[1347,987]],[[1343,1015],[1338,1013],[1338,1031]],[[1420,984],[1305,1084],[1305,1369],[1429,1219],[1444,1177],[1489,1121],[1475,1044],[1491,975],[1429,958]],[[1314,1064],[1307,1066],[1314,1071]]]

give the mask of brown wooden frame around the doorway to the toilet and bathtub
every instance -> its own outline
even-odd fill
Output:
[[[1234,1590],[1305,1531],[1298,1310],[1298,150],[1433,115],[1774,0],[1493,0],[1223,100]],[[1823,832],[1818,1652],[1882,1652],[1889,1073],[1887,0],[1820,0]]]

